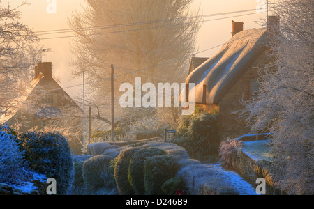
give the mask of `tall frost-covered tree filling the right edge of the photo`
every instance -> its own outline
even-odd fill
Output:
[[[280,33],[269,30],[273,63],[247,104],[252,131],[272,133],[273,171],[291,194],[314,194],[314,1],[278,0]],[[277,31],[278,32],[278,31]]]

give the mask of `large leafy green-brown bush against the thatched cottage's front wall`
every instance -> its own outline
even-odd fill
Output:
[[[172,142],[186,148],[193,158],[218,155],[220,139],[217,125],[216,114],[183,116],[179,121],[176,139]]]

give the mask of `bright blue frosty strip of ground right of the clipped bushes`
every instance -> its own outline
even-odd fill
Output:
[[[240,195],[257,195],[251,184],[247,183],[239,174],[223,169],[219,162],[207,164],[207,167],[218,171],[216,175],[225,179],[227,183],[230,183],[230,185],[237,189]]]

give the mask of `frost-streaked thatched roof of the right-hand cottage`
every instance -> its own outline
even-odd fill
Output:
[[[230,91],[266,49],[266,31],[251,29],[237,33],[215,56],[190,73],[186,83],[195,84],[196,103],[204,102],[204,91],[207,104],[217,104]]]

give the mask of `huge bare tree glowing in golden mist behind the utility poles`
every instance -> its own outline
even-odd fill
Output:
[[[200,29],[200,17],[190,17],[199,12],[188,11],[192,1],[86,0],[84,11],[73,13],[69,20],[77,35],[72,45],[77,58],[73,75],[81,77],[85,70],[89,82],[105,79],[113,63],[116,75],[147,68],[119,78],[122,82],[134,83],[135,77],[155,83],[184,81],[183,69]],[[101,93],[108,92],[107,86],[91,84]]]

